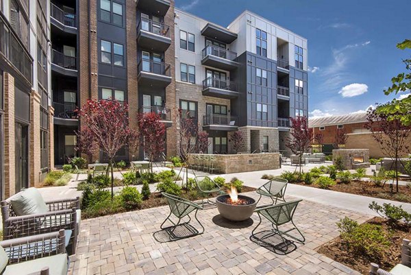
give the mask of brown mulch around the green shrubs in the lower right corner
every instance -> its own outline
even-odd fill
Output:
[[[321,246],[317,252],[324,254],[334,261],[343,263],[364,275],[369,274],[371,263],[377,263],[379,267],[384,270],[390,270],[398,263],[401,263],[401,243],[402,239],[411,238],[410,227],[407,227],[404,224],[399,224],[399,226],[393,230],[393,228],[388,226],[386,219],[380,217],[369,219],[366,223],[380,225],[386,232],[390,232],[391,234],[390,246],[384,251],[382,259],[369,259],[364,255],[355,255],[352,252],[349,252],[347,246],[340,237],[336,237],[336,239]]]

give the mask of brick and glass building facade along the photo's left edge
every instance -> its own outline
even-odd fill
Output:
[[[53,167],[47,0],[0,1],[1,198],[37,186]]]

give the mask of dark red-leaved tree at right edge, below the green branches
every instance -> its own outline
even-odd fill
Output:
[[[384,105],[377,105],[377,108],[369,108],[367,111],[367,122],[364,127],[371,131],[373,139],[377,141],[383,154],[389,156],[394,161],[396,189],[398,192],[398,165],[399,163],[403,165],[400,156],[410,151],[410,145],[407,143],[407,140],[410,136],[411,125],[404,125],[401,119],[393,119],[391,115],[379,112],[381,110],[379,109],[380,107],[384,108]],[[390,184],[390,189],[393,192],[393,184]]]

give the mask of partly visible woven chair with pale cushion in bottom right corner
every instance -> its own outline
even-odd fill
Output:
[[[402,275],[411,274],[411,241],[403,239],[401,246],[401,263],[395,265],[390,272],[382,270],[376,263],[371,263],[370,275]]]

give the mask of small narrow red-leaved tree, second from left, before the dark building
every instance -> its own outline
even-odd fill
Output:
[[[155,112],[149,112],[138,116],[138,129],[143,142],[145,154],[151,163],[151,173],[153,173],[153,160],[164,152],[164,136],[166,126],[161,121],[161,117]]]

